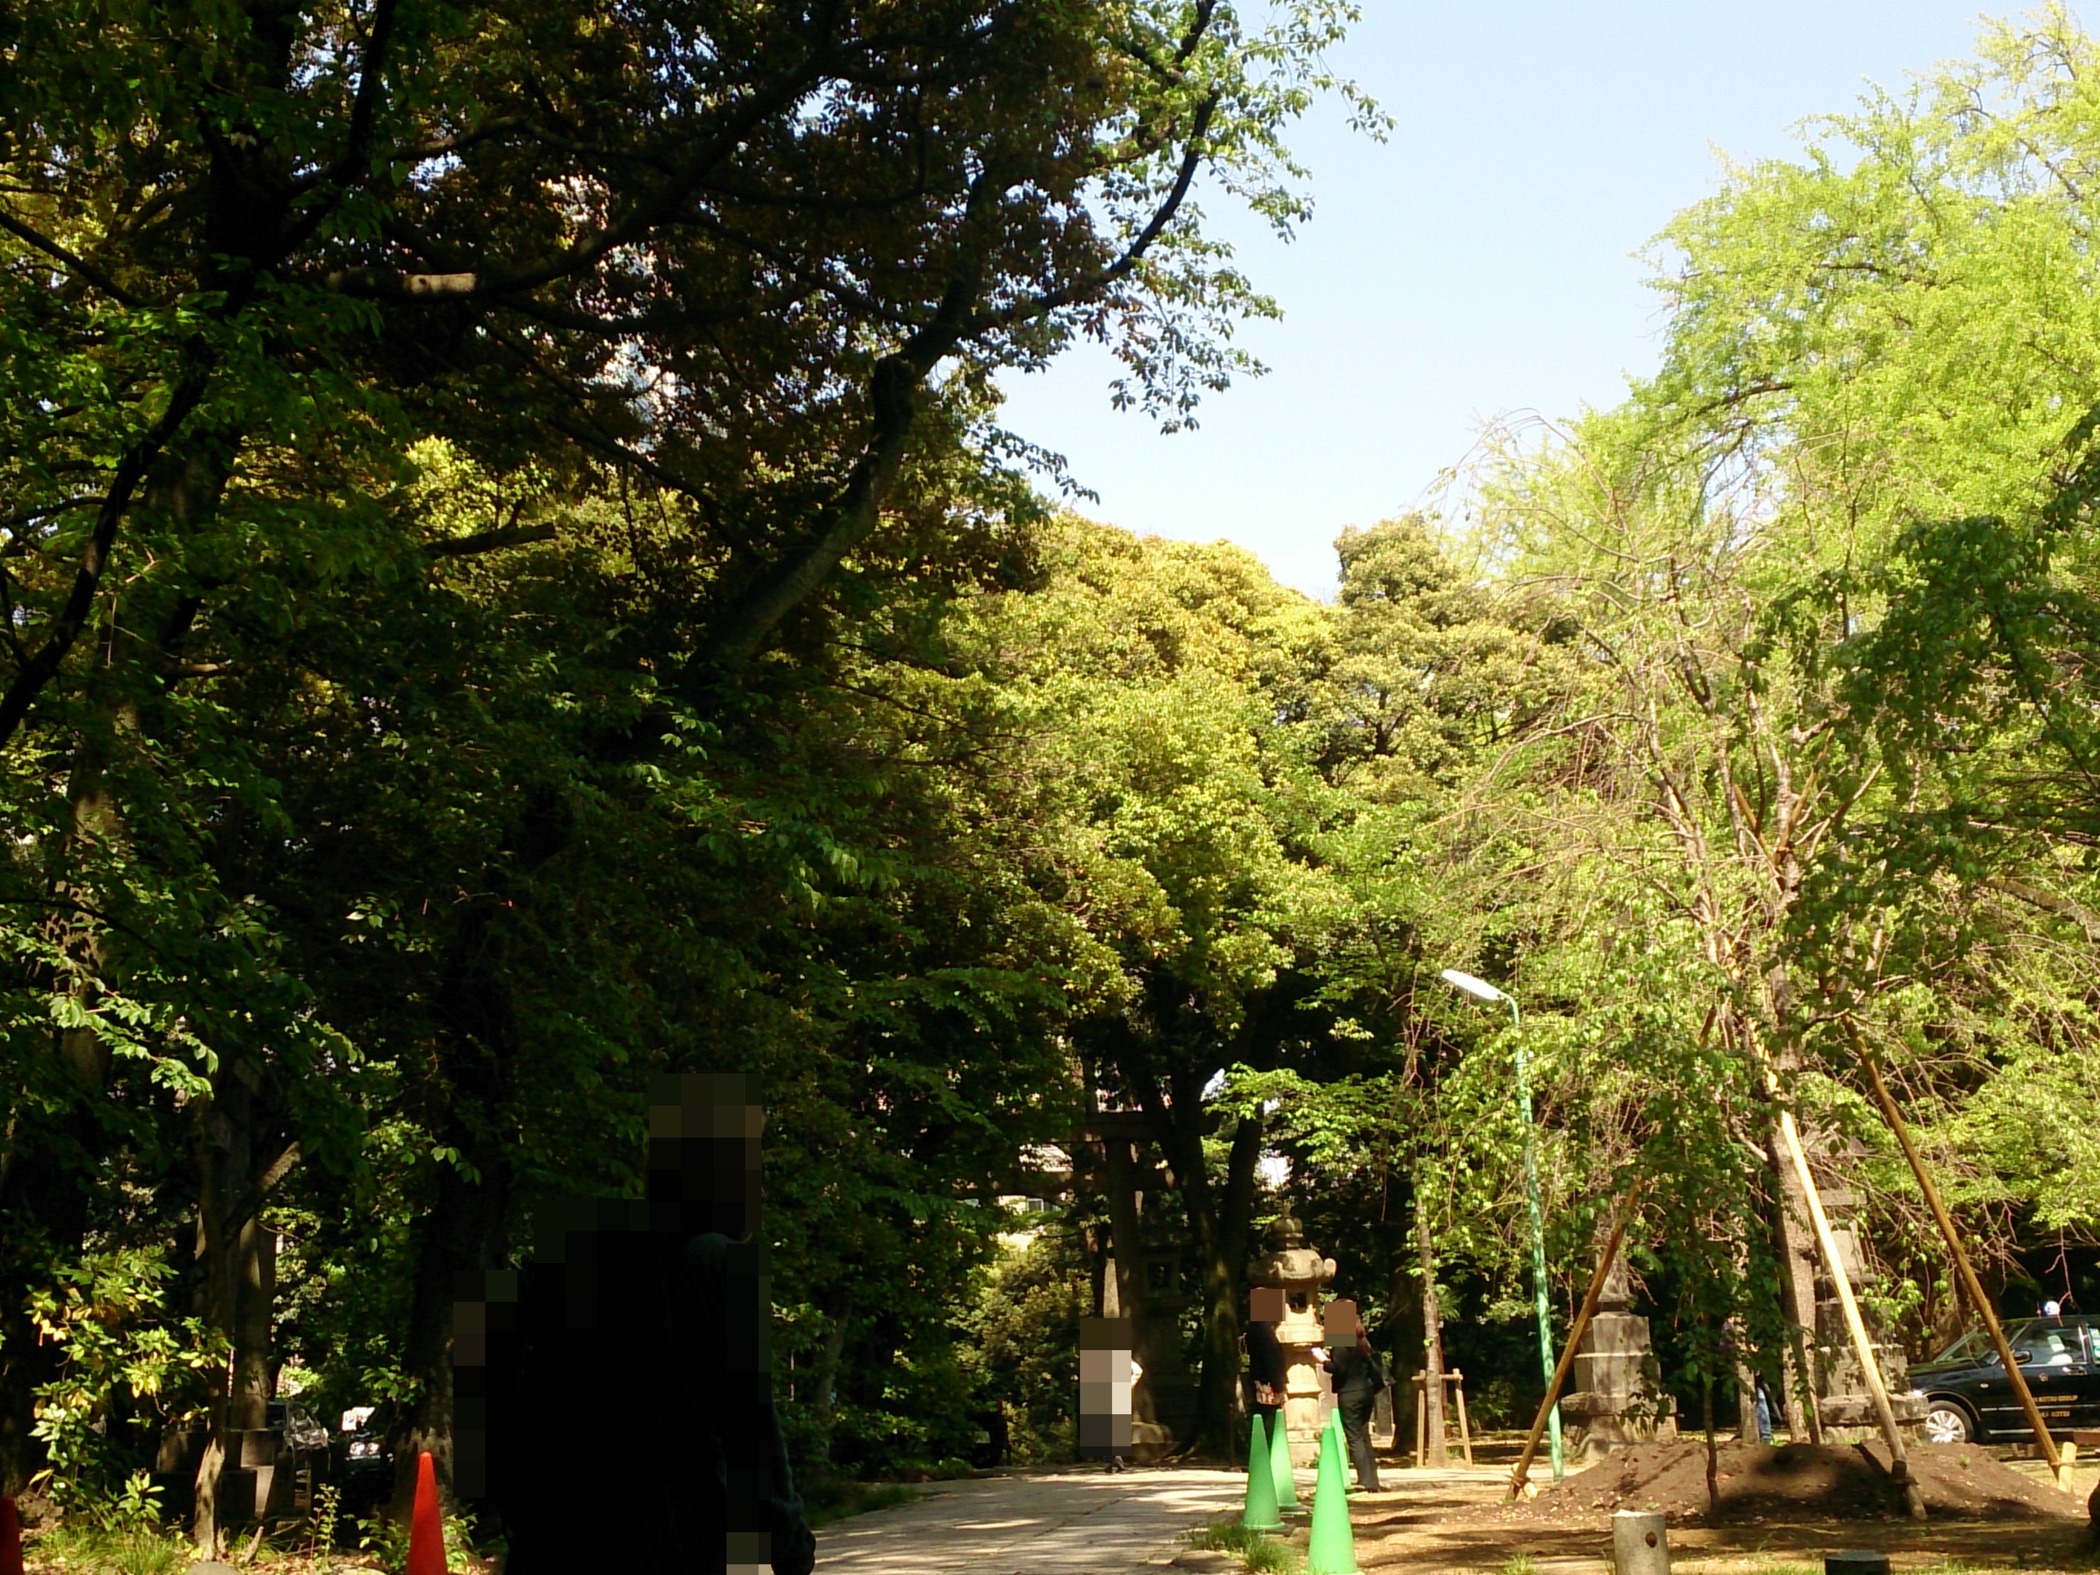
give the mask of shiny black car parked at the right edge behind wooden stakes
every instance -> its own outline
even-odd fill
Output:
[[[2050,1432],[2100,1426],[2100,1319],[2045,1317],[2006,1325],[2006,1342]],[[2033,1441],[1997,1346],[1982,1329],[1911,1367],[1926,1396],[1930,1443]]]

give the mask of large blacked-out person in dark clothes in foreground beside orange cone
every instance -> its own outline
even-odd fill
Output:
[[[454,1321],[458,1493],[504,1575],[808,1575],[773,1409],[764,1113],[741,1075],[651,1088],[649,1197],[544,1210]]]

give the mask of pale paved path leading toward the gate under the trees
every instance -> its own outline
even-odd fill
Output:
[[[1310,1491],[1310,1472],[1300,1472]],[[1237,1512],[1241,1472],[1132,1468],[937,1483],[817,1531],[819,1575],[1136,1575]]]

